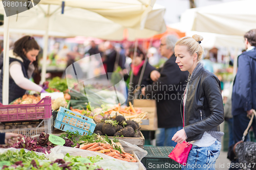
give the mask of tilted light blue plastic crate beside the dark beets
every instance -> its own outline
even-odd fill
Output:
[[[73,112],[72,110],[60,107],[55,119],[54,127],[67,132],[67,130],[78,131],[81,135],[93,132],[96,124],[92,118]],[[91,134],[89,134],[91,135]]]

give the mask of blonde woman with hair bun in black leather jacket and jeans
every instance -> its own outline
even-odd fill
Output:
[[[172,138],[175,142],[193,144],[184,169],[215,169],[221,151],[220,124],[224,121],[221,84],[200,62],[203,37],[183,37],[175,45],[176,63],[188,71],[183,99],[183,129]]]

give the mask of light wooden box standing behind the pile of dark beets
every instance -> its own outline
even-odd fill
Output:
[[[157,105],[156,100],[139,100],[133,101],[134,107],[140,108],[141,111],[147,112],[147,119],[142,120],[141,130],[157,130]]]

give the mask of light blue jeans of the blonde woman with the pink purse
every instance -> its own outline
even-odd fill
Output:
[[[221,142],[216,140],[209,147],[197,147],[193,145],[188,157],[184,170],[201,169],[212,170],[216,168],[215,162],[221,151]]]

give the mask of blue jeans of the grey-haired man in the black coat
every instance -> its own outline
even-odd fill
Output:
[[[173,128],[158,128],[156,131],[156,145],[160,146],[176,146],[176,142],[172,140],[174,134],[181,130],[182,126]]]

